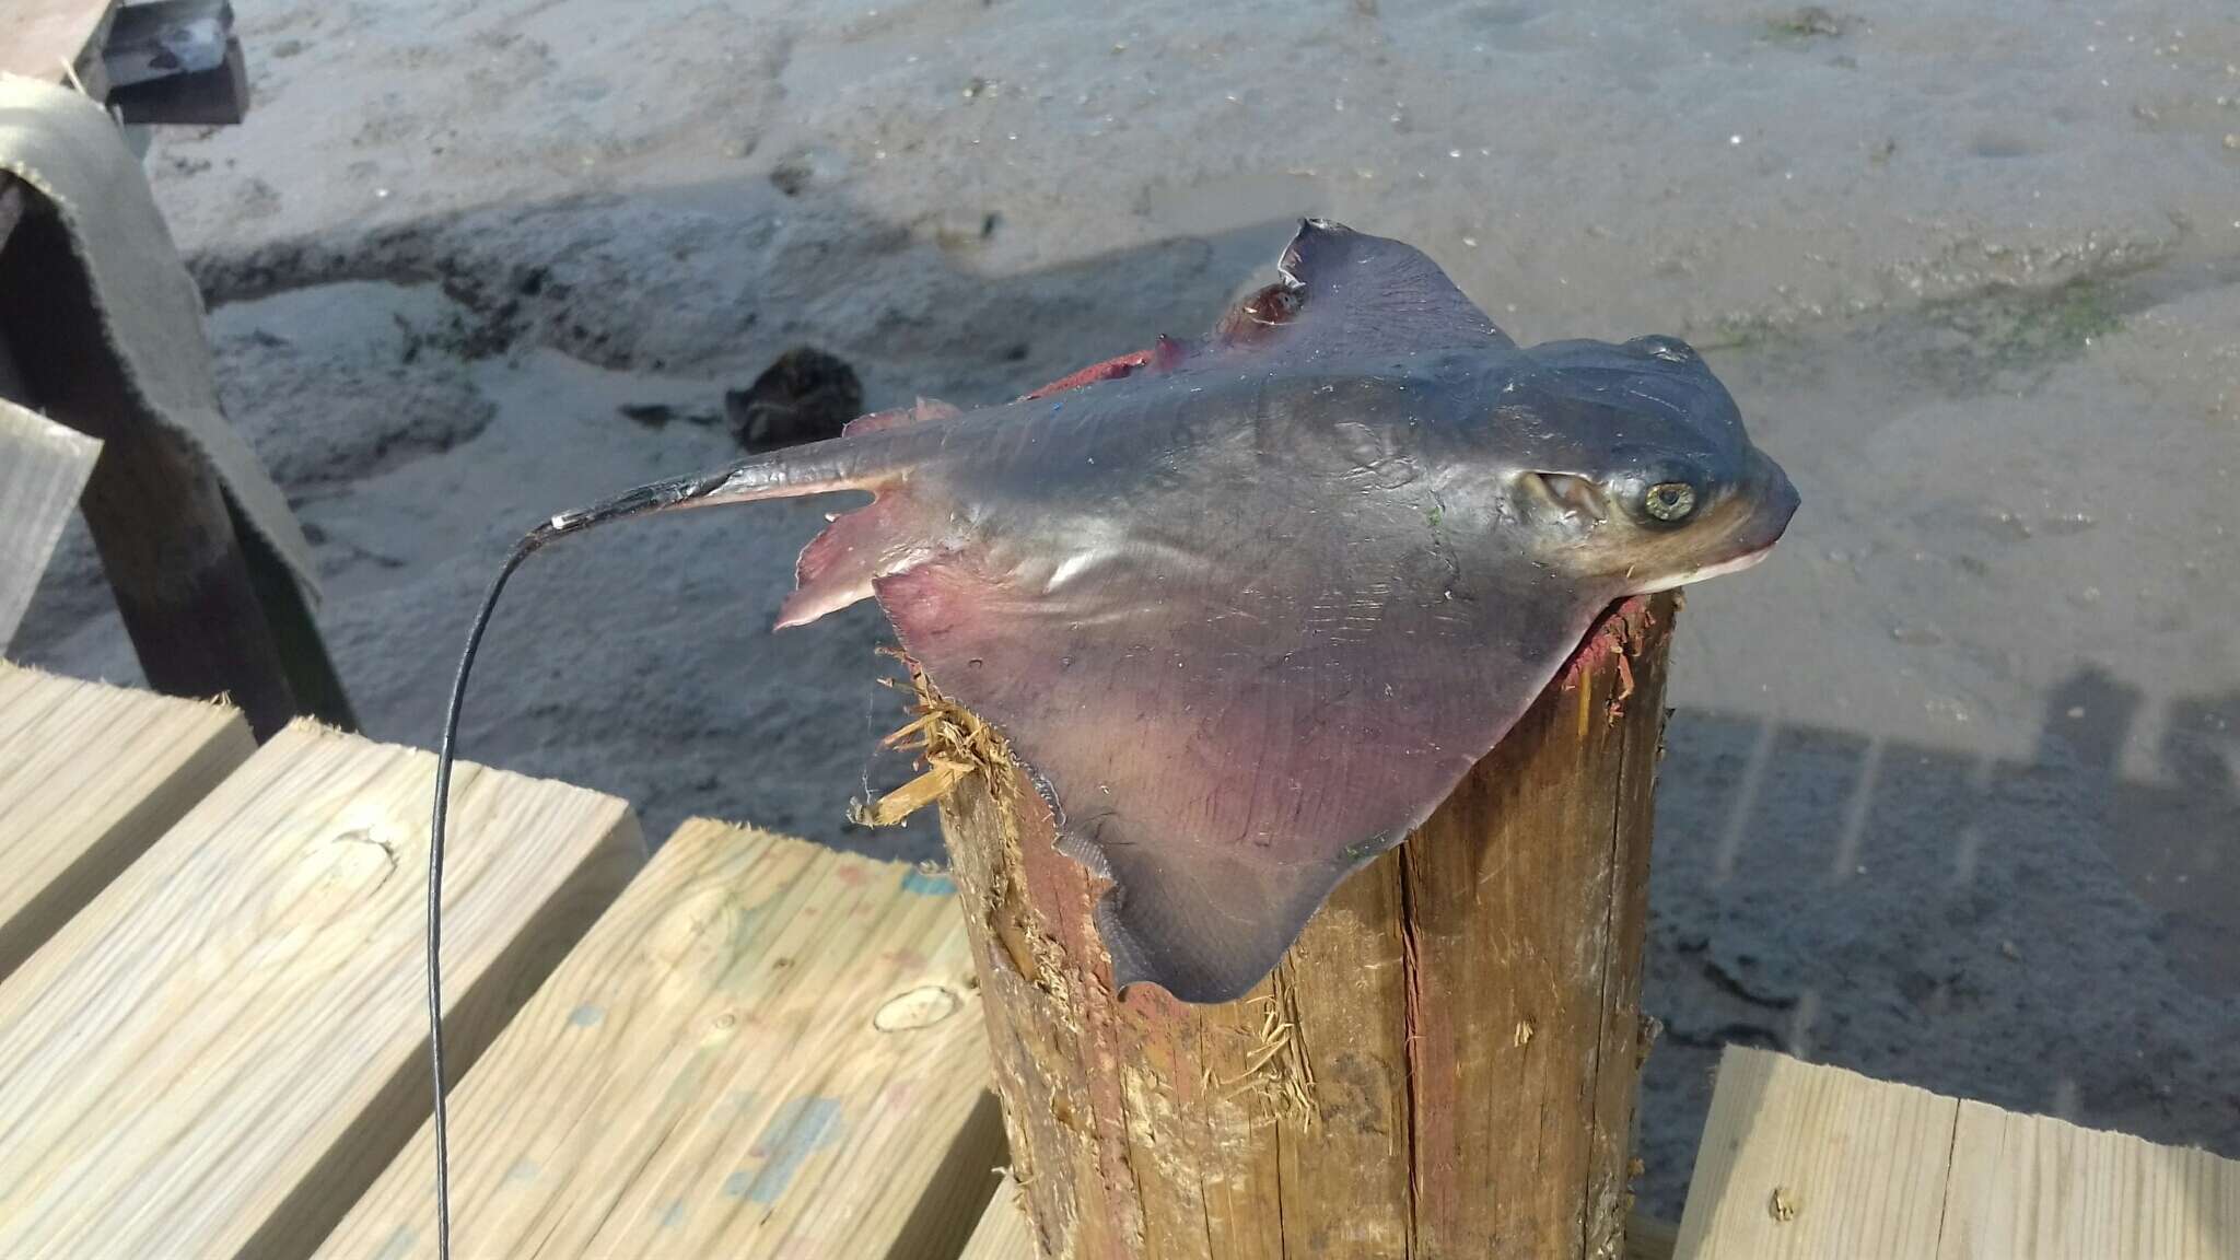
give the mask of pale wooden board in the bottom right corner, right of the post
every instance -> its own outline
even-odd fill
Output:
[[[2231,1260],[2240,1164],[1729,1047],[1680,1260]]]

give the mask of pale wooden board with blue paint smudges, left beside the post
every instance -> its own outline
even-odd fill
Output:
[[[1004,1164],[950,883],[692,821],[452,1094],[459,1256],[948,1260]],[[320,1256],[432,1256],[423,1128]]]

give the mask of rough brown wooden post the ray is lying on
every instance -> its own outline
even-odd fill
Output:
[[[1676,610],[1615,608],[1431,821],[1223,1007],[1118,1000],[1100,883],[1017,769],[963,778],[943,827],[1046,1260],[1620,1256]],[[945,760],[988,765],[995,735],[952,717],[981,756]]]

